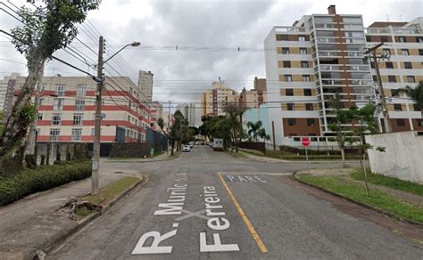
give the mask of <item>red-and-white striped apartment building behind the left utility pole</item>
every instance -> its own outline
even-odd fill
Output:
[[[9,80],[15,95],[25,79]],[[94,142],[95,88],[90,77],[43,77],[37,142]],[[129,77],[106,77],[105,89],[101,142],[144,142],[150,110],[139,87]]]

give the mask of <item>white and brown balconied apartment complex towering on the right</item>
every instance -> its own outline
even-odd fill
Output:
[[[381,23],[377,23],[375,26],[380,25]],[[380,33],[391,30],[392,34],[386,35],[394,44],[390,45],[391,49],[413,49],[411,53],[416,54],[419,48],[423,48],[423,45],[418,43],[421,36],[419,24],[414,24],[409,31],[404,28],[402,31],[396,30],[396,25],[395,28],[393,25],[386,24],[384,30],[365,29],[361,15],[336,14],[335,5],[331,5],[328,14],[305,15],[292,26],[272,28],[264,42],[267,50],[267,97],[271,103],[269,117],[275,129],[275,141],[271,142],[277,145],[299,146],[301,136],[311,136],[311,145],[336,145],[330,137],[333,133],[328,129],[328,125],[334,122],[330,101],[336,93],[339,93],[345,109],[352,105],[361,107],[375,101],[375,73],[371,70],[365,51],[380,40],[385,40],[385,37],[380,38]],[[411,24],[404,23],[401,26],[411,27]],[[409,38],[407,34],[411,32],[412,37]],[[412,38],[412,43],[397,44],[396,42],[400,42],[399,35],[405,40],[411,41]],[[394,42],[395,37],[397,40]],[[402,52],[398,56],[401,55]],[[396,76],[398,83],[406,83],[412,81],[411,77],[409,80],[407,76],[413,76],[415,82],[418,82],[423,71],[421,58],[422,56],[411,54],[392,56],[393,61],[389,62],[396,63],[392,65],[395,66],[394,69],[389,70],[383,67],[385,65],[381,66],[383,81],[393,79],[388,76]],[[410,68],[410,64],[405,65],[404,61],[414,61],[415,64],[411,66],[414,65],[416,69],[406,69],[405,66]],[[404,85],[386,87],[399,88]],[[411,103],[405,99],[403,102]],[[395,118],[393,125],[402,123],[402,120],[396,122],[396,119],[416,118],[416,114],[409,113],[411,106],[404,105],[402,111],[395,111],[395,108],[399,110],[399,106],[392,103],[390,108],[391,118]],[[407,123],[404,124],[407,126]],[[416,121],[415,125],[419,124],[421,122]],[[394,127],[394,130],[406,128]]]

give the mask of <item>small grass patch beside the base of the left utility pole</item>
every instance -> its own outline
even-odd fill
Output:
[[[116,182],[105,186],[103,189],[98,191],[97,194],[87,195],[80,199],[87,200],[98,206],[102,206],[105,203],[116,198],[120,193],[128,190],[130,186],[138,182],[139,182],[139,178],[137,177],[124,176],[124,177],[121,177]]]

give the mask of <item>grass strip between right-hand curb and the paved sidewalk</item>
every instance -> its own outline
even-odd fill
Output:
[[[377,207],[387,212],[423,223],[423,208],[396,199],[381,191],[370,190],[370,196],[366,195],[364,186],[360,184],[347,183],[338,176],[311,176],[297,175],[304,183],[311,183],[327,191],[343,195],[348,199],[360,201]]]

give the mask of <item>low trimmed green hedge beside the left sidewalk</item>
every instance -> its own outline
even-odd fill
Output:
[[[0,206],[90,175],[89,160],[62,162],[54,166],[25,169],[13,175],[0,175]]]

